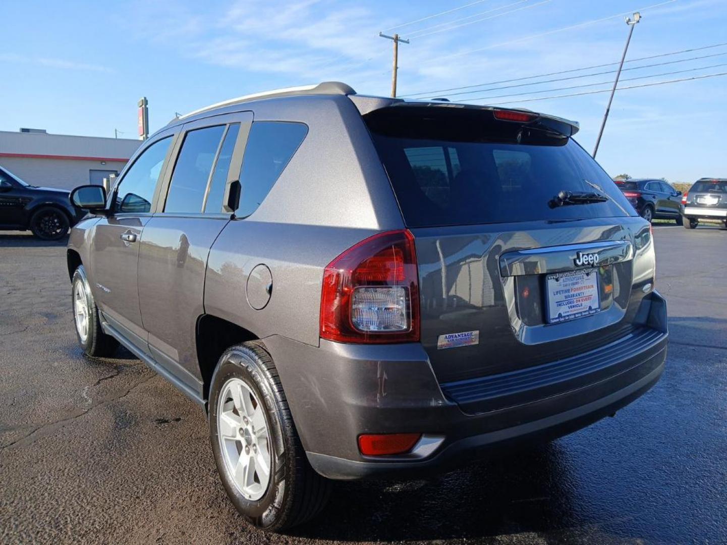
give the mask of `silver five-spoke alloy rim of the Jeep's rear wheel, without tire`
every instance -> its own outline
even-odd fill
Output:
[[[217,437],[225,471],[246,499],[257,501],[268,490],[272,461],[265,407],[239,378],[222,386],[217,403]]]

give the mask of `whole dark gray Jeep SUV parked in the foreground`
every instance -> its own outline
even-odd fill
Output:
[[[239,512],[432,474],[613,415],[667,351],[654,243],[574,122],[357,95],[229,100],[156,132],[68,243],[76,333],[209,414]]]

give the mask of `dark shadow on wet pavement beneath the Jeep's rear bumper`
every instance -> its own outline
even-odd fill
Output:
[[[336,482],[324,512],[291,535],[417,541],[557,532],[574,524],[567,458],[552,442],[429,480]]]

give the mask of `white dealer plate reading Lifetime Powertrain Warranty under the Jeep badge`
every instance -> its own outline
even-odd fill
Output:
[[[598,269],[548,274],[545,284],[545,306],[550,324],[590,316],[601,310]]]

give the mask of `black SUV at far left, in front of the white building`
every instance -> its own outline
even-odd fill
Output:
[[[44,240],[68,234],[84,212],[71,205],[69,191],[31,186],[0,167],[0,231],[25,231]]]

